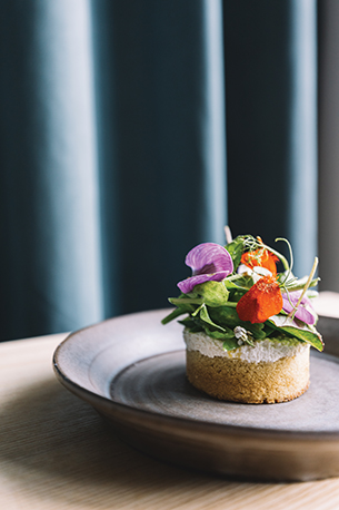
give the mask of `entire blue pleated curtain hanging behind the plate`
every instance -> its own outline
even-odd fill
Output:
[[[289,236],[309,271],[312,0],[12,0],[0,13],[1,340],[166,306],[185,254],[223,243],[228,222]]]

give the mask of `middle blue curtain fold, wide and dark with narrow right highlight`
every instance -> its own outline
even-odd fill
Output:
[[[167,306],[188,275],[185,254],[199,242],[223,242],[221,3],[92,7],[111,315]]]

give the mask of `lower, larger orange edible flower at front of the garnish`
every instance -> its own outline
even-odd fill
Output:
[[[282,308],[282,295],[273,276],[260,278],[238,302],[240,321],[262,323]]]

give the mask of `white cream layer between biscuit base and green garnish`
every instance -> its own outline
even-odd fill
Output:
[[[296,356],[310,349],[310,345],[296,341],[266,339],[255,342],[255,347],[241,345],[233,351],[223,351],[222,341],[215,340],[206,333],[190,333],[183,330],[183,340],[188,351],[199,351],[208,357],[228,357],[247,361],[249,363],[275,362],[281,357]]]

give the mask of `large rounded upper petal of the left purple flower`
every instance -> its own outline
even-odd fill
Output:
[[[191,267],[193,275],[212,274],[226,271],[233,272],[233,263],[228,251],[216,243],[202,243],[192,248],[186,257],[186,265]]]

